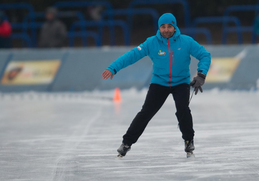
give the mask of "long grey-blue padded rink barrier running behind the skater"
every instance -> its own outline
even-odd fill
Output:
[[[101,73],[117,57],[134,47],[98,47],[98,48],[62,48],[62,49],[6,49],[0,50],[0,92],[20,91],[84,91],[94,89],[129,89],[136,87],[142,89],[150,84],[152,76],[152,61],[148,56],[121,69],[113,80],[102,80]],[[205,46],[212,55],[211,75],[207,75],[203,89],[254,89],[259,79],[259,47],[257,45],[209,45]],[[8,62],[42,60],[60,60],[61,65],[53,77],[53,81],[45,84],[12,84],[2,83],[2,76],[6,71]],[[220,60],[218,63],[216,63]],[[226,61],[225,63],[223,62]],[[233,61],[238,61],[234,70]],[[198,61],[191,57],[191,78],[197,73]],[[214,64],[213,64],[214,63]],[[216,63],[216,64],[215,64]],[[223,69],[218,69],[223,67]],[[222,72],[223,71],[223,72]],[[132,73],[134,72],[134,73]],[[245,72],[245,74],[244,74]],[[219,75],[227,75],[227,81],[220,80]],[[213,79],[209,79],[210,76]],[[212,78],[212,77],[211,77]],[[126,81],[125,81],[126,80]]]

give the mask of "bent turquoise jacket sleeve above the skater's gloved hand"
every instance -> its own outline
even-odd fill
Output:
[[[204,73],[207,75],[210,64],[211,64],[211,54],[200,45],[197,41],[191,38],[191,47],[190,47],[191,56],[199,60],[198,63],[198,72]]]

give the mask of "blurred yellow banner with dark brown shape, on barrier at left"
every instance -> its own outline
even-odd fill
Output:
[[[60,60],[10,61],[2,85],[49,84],[61,64]]]

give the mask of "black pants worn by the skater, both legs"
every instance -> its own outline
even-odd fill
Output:
[[[175,101],[175,115],[179,122],[182,138],[184,140],[193,139],[194,130],[192,128],[192,116],[189,108],[190,85],[180,84],[174,87],[166,87],[158,84],[150,84],[142,109],[133,119],[126,134],[123,136],[123,143],[131,146],[137,142],[148,122],[162,107],[169,94],[173,95]]]

